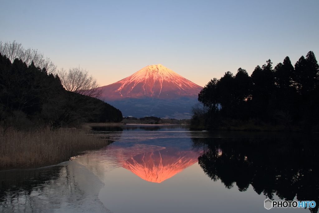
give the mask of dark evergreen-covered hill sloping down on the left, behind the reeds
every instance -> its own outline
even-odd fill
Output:
[[[108,103],[65,90],[58,75],[48,74],[33,62],[27,66],[18,58],[11,63],[0,53],[0,122],[4,129],[121,120],[121,111]]]

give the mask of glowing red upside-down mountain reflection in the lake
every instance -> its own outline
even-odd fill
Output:
[[[123,167],[144,180],[160,183],[196,163],[198,156],[193,151],[166,148],[131,157]]]

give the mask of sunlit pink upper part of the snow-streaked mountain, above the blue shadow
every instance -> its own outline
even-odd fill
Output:
[[[177,99],[197,98],[203,87],[185,79],[163,65],[149,65],[104,89],[101,99],[105,101],[122,98]]]

